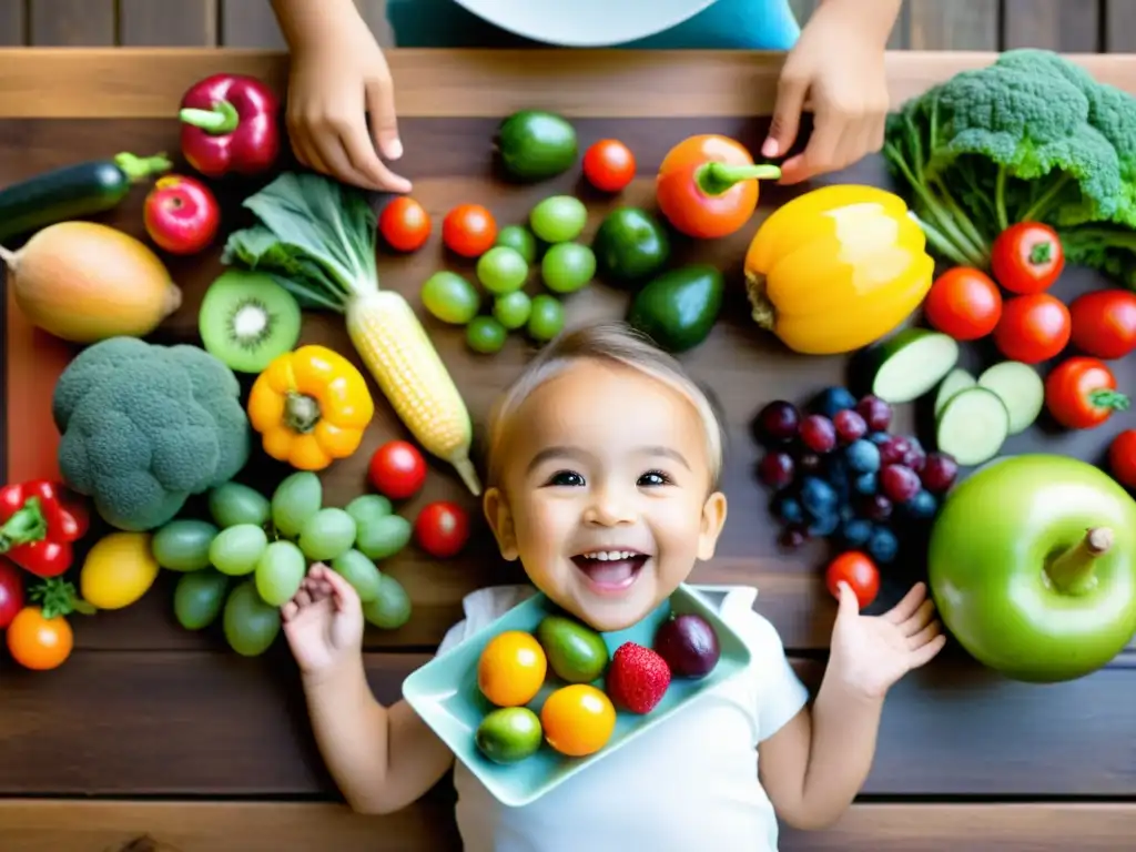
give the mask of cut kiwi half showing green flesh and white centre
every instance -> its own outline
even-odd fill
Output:
[[[264,273],[229,269],[206,291],[198,328],[206,351],[239,373],[260,373],[300,340],[300,303]]]

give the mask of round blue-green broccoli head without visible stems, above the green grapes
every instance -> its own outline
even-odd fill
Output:
[[[195,346],[97,343],[59,377],[52,414],[64,479],[119,529],[161,526],[251,453],[236,376]]]

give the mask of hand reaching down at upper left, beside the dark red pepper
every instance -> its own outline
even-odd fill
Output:
[[[368,190],[409,192],[391,172],[402,156],[391,70],[370,31],[358,22],[328,30],[292,51],[287,130],[296,159],[343,183]],[[366,110],[371,130],[367,130]]]

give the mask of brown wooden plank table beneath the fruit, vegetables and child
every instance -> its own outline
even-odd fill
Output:
[[[966,67],[983,53],[895,53],[888,57],[894,102]],[[1136,90],[1136,58],[1078,58],[1105,80]],[[573,191],[576,173],[537,187],[501,187],[488,177],[488,140],[501,116],[526,107],[558,110],[582,141],[617,135],[640,158],[641,177],[625,200],[646,203],[650,175],[667,148],[696,132],[724,132],[757,149],[775,94],[780,57],[733,53],[393,52],[407,154],[402,170],[438,223],[460,201],[491,206],[499,220],[520,220],[538,198]],[[275,53],[204,50],[0,51],[0,184],[120,150],[176,151],[172,119],[182,91],[217,70],[260,75],[283,87],[286,61]],[[886,182],[870,158],[824,182]],[[797,190],[800,191],[800,190]],[[142,235],[135,194],[108,222]],[[241,193],[223,190],[226,210]],[[762,212],[791,195],[765,191]],[[617,203],[587,197],[590,229]],[[682,249],[736,269],[747,229],[713,249]],[[412,296],[443,262],[437,234],[411,258],[381,257],[387,287]],[[701,252],[701,253],[700,253]],[[193,339],[201,294],[220,270],[217,252],[170,260],[186,292],[183,308],[157,337]],[[1072,276],[1077,278],[1077,276]],[[1084,279],[1069,286],[1081,287]],[[625,295],[598,284],[569,304],[569,318],[617,315]],[[735,308],[737,306],[735,304]],[[5,346],[6,481],[51,474],[55,433],[51,381],[72,350],[33,332],[8,304]],[[495,392],[527,356],[511,341],[494,358],[474,358],[460,334],[427,321],[477,423]],[[306,341],[344,346],[343,332],[312,318]],[[349,351],[344,349],[344,351]],[[730,524],[719,558],[694,579],[752,583],[804,679],[816,686],[834,615],[817,566],[820,550],[779,553],[766,517],[766,495],[751,475],[758,449],[750,420],[769,399],[800,400],[840,382],[843,360],[791,357],[734,310],[687,357],[712,378],[726,407],[732,459],[725,487]],[[51,375],[48,375],[51,374]],[[1125,367],[1129,381],[1131,366]],[[359,457],[324,475],[329,500],[345,503],[364,486],[366,458],[401,426],[378,399],[378,415]],[[1095,456],[1119,424],[1092,436],[1022,437],[1006,448],[1045,445]],[[425,492],[477,512],[449,469],[432,461]],[[515,578],[478,531],[468,552],[432,562],[411,546],[383,566],[407,586],[415,613],[393,633],[368,634],[367,670],[384,701],[398,698],[407,673],[427,659],[460,617],[461,596]],[[77,650],[60,669],[33,674],[0,665],[0,849],[6,852],[169,849],[250,850],[457,849],[452,791],[443,782],[398,815],[367,818],[342,804],[315,750],[281,641],[266,657],[244,660],[216,633],[181,630],[164,577],[136,605],[76,619]],[[896,594],[899,588],[888,590]],[[1136,674],[1129,653],[1080,680],[1030,687],[1005,682],[958,652],[947,652],[891,695],[878,755],[861,801],[830,832],[785,832],[783,849],[843,852],[968,852],[1030,849],[1116,850],[1136,833]],[[1011,803],[1013,802],[1013,803]],[[140,837],[141,842],[134,843]],[[149,840],[166,845],[153,845]]]

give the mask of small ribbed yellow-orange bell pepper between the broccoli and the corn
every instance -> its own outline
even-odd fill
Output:
[[[265,452],[298,470],[321,470],[353,453],[374,415],[362,374],[325,346],[279,356],[249,393],[249,423]]]

